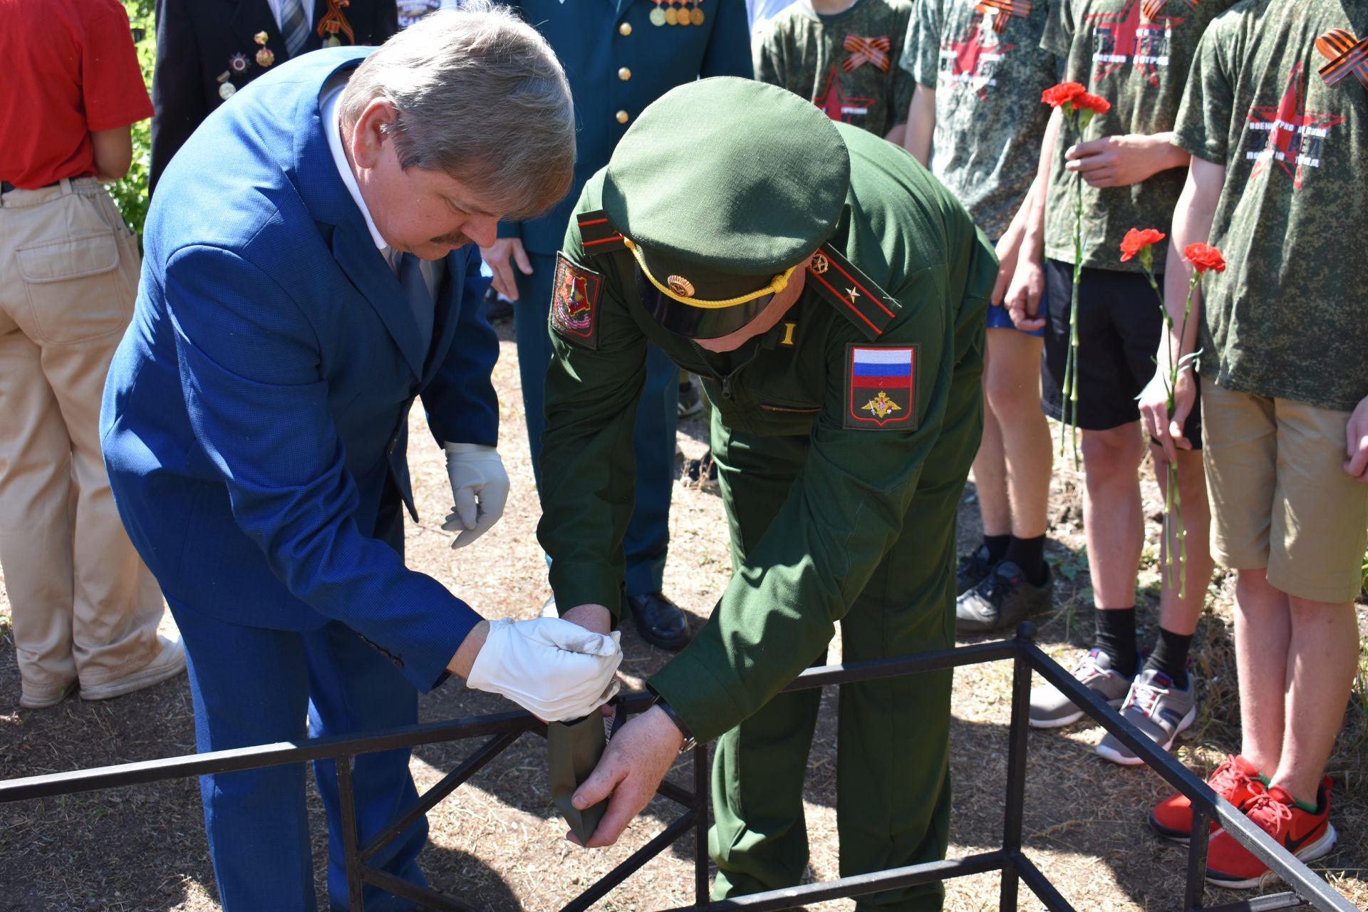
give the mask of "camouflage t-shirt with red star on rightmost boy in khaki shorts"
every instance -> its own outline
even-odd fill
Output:
[[[1226,165],[1201,371],[1228,390],[1368,397],[1364,37],[1368,0],[1245,0],[1202,38],[1175,142]]]

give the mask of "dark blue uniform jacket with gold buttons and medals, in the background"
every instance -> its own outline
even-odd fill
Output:
[[[577,155],[575,185],[560,205],[539,219],[501,223],[499,237],[518,237],[527,250],[554,254],[584,183],[607,164],[646,105],[699,77],[751,78],[751,29],[744,0],[691,4],[703,11],[700,26],[653,26],[651,0],[521,0],[517,5],[565,67],[575,96]],[[624,68],[627,79],[620,78]],[[625,123],[618,122],[620,111],[627,112]],[[687,133],[688,124],[680,130]]]

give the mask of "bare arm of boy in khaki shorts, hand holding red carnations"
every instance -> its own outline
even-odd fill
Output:
[[[1193,287],[1192,310],[1183,328],[1183,309],[1187,301],[1187,287],[1192,279],[1192,265],[1182,256],[1189,243],[1205,243],[1211,235],[1211,222],[1216,215],[1222,187],[1226,185],[1226,165],[1193,156],[1187,170],[1187,182],[1178,197],[1174,209],[1174,232],[1168,238],[1168,268],[1164,272],[1164,308],[1172,320],[1172,327],[1164,332],[1155,353],[1155,379],[1140,395],[1140,416],[1145,431],[1164,447],[1164,455],[1174,461],[1176,448],[1190,450],[1192,442],[1183,436],[1183,423],[1197,399],[1197,379],[1192,368],[1178,375],[1174,387],[1174,412],[1168,413],[1167,377],[1176,360],[1197,349],[1198,325],[1201,324],[1201,286]]]

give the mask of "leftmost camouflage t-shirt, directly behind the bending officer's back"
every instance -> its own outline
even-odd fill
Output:
[[[798,0],[770,25],[755,78],[811,100],[832,120],[886,135],[907,120],[917,85],[899,66],[911,15],[911,0],[855,0],[833,15]]]

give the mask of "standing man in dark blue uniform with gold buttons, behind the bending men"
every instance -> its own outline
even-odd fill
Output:
[[[607,164],[617,141],[646,105],[699,77],[751,78],[744,0],[523,0],[523,18],[555,49],[575,94],[579,159],[575,183],[560,205],[538,219],[503,220],[499,241],[482,247],[494,289],[517,301],[518,373],[538,487],[542,483],[543,386],[551,364],[546,331],[555,253],[580,189]],[[680,124],[687,133],[688,124]],[[763,155],[757,149],[757,155]],[[681,163],[683,164],[683,163]],[[681,213],[687,217],[687,213]],[[654,345],[636,412],[636,507],[622,539],[627,552],[624,614],[648,643],[681,649],[688,625],[663,593],[674,487],[679,368]]]

